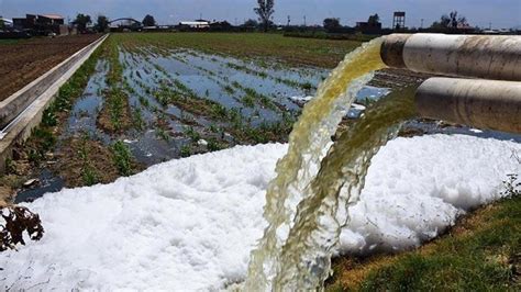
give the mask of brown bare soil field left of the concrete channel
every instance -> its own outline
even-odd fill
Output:
[[[99,35],[75,35],[0,44],[0,101],[98,37]]]

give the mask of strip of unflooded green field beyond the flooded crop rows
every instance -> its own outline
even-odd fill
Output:
[[[334,68],[359,41],[330,41],[285,37],[263,33],[135,33],[113,34],[125,47],[152,45],[167,48],[193,48],[235,57],[275,57],[289,65]]]

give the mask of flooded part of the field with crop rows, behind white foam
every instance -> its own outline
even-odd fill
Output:
[[[56,143],[43,153],[37,183],[16,201],[109,182],[173,158],[287,142],[303,104],[329,74],[274,58],[110,41],[93,63],[81,93],[53,130]],[[387,93],[364,88],[346,119]]]

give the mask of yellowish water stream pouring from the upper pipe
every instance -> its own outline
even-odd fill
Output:
[[[331,136],[353,103],[356,92],[370,80],[373,77],[370,72],[385,67],[379,54],[381,38],[378,38],[348,54],[319,87],[317,97],[304,106],[299,121],[295,124],[289,136],[288,154],[277,164],[277,177],[268,186],[264,216],[269,225],[258,247],[252,251],[244,285],[246,291],[317,289],[328,277],[331,255],[329,255],[330,248],[325,247],[328,243],[336,242],[334,238],[329,239],[331,233],[337,233],[336,227],[329,228],[329,226],[336,225],[340,228],[342,223],[332,223],[331,221],[335,218],[329,220],[332,224],[317,222],[321,226],[326,226],[326,235],[323,236],[313,234],[313,231],[320,228],[311,222],[303,231],[304,227],[295,224],[297,222],[295,218],[302,217],[300,222],[303,224],[302,212],[308,215],[318,213],[297,205],[300,205],[299,202],[303,202],[303,199],[309,199],[310,193],[314,191],[309,186],[315,179],[324,149],[331,143]],[[359,188],[353,188],[355,189]],[[331,207],[325,211],[328,214],[334,213],[334,205],[337,206],[337,203],[331,203]],[[321,202],[314,202],[314,207],[321,205]],[[302,228],[302,233],[296,228]],[[295,243],[296,240],[291,240],[290,237],[299,237],[302,240]],[[291,255],[292,250],[299,250],[298,255]],[[288,266],[292,270],[282,271]],[[295,280],[285,279],[285,274],[293,276]]]

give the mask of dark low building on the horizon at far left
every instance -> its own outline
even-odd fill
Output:
[[[26,14],[25,18],[13,19],[13,26],[16,30],[27,31],[35,35],[68,34],[65,19],[58,14]]]

